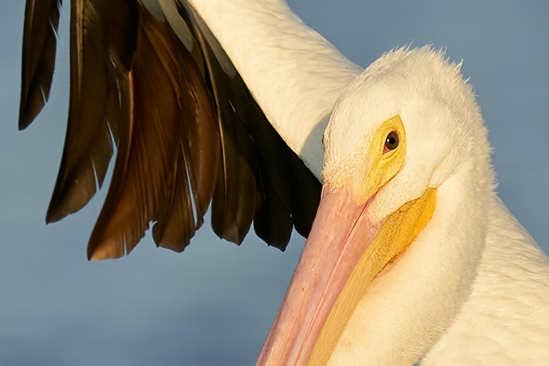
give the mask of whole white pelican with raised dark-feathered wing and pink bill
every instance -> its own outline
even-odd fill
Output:
[[[460,65],[401,48],[363,71],[281,1],[114,4],[71,3],[47,214],[83,207],[118,146],[89,258],[151,221],[181,251],[211,201],[233,242],[252,220],[276,247],[309,236],[259,365],[549,363],[549,261],[495,194]],[[27,0],[21,128],[49,95],[58,16]]]

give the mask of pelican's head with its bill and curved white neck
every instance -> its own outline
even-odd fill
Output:
[[[467,300],[493,172],[474,92],[443,52],[397,49],[344,91],[323,197],[259,364],[405,365]]]

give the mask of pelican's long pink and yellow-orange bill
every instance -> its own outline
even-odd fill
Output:
[[[257,365],[325,365],[367,286],[432,216],[436,189],[380,222],[344,187],[323,187],[312,231]]]

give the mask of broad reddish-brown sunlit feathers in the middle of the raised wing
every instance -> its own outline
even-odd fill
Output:
[[[119,124],[113,180],[88,247],[94,259],[129,253],[151,221],[157,244],[183,251],[217,174],[218,130],[200,70],[167,23],[139,14],[132,69],[121,88],[129,113]]]

